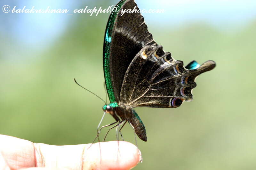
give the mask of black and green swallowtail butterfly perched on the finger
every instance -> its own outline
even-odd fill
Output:
[[[117,6],[119,11],[110,14],[104,38],[103,69],[110,104],[103,111],[116,121],[109,125],[128,122],[147,141],[145,126],[133,108],[174,108],[191,101],[195,78],[216,64],[192,61],[184,67],[153,40],[134,0],[121,0]],[[137,12],[120,15],[124,10]]]

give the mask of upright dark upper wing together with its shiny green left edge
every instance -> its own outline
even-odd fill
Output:
[[[103,48],[105,82],[111,103],[120,101],[125,72],[136,54],[147,45],[157,45],[140,13],[120,16],[122,10],[139,10],[134,0],[122,0],[117,6],[119,12],[109,16]]]

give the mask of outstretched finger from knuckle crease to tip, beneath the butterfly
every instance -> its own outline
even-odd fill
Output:
[[[69,169],[127,170],[140,162],[140,151],[131,143],[120,141],[54,146],[36,144],[37,165]]]

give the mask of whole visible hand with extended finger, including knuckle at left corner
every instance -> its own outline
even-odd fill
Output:
[[[90,145],[55,146],[0,135],[0,170],[126,170],[141,159],[137,147],[128,142],[101,142],[87,149]]]

